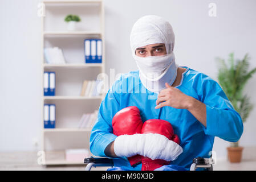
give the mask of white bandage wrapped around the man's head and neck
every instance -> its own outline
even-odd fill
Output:
[[[139,68],[142,84],[151,92],[159,93],[165,82],[172,85],[177,76],[173,53],[174,33],[172,26],[155,15],[143,16],[133,25],[131,37],[132,56]],[[166,55],[140,57],[136,49],[150,44],[165,44]]]

